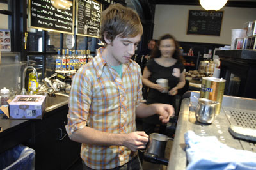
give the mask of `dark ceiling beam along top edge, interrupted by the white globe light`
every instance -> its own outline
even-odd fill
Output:
[[[172,5],[200,5],[199,0],[154,0],[156,4],[172,4]],[[242,8],[256,8],[256,2],[252,1],[228,1],[225,6],[228,7],[242,7]]]

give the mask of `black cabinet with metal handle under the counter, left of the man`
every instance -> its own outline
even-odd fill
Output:
[[[68,169],[80,157],[81,144],[71,141],[65,130],[67,105],[33,122],[31,148],[36,151],[35,169]]]

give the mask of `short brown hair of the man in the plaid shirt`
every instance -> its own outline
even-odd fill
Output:
[[[100,22],[100,38],[106,38],[111,42],[120,36],[122,38],[132,38],[137,35],[142,35],[143,27],[140,22],[139,15],[131,8],[122,6],[121,4],[111,4],[104,12],[102,12]]]

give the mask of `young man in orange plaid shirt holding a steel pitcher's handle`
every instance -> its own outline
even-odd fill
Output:
[[[82,143],[84,169],[141,169],[137,150],[148,135],[135,118],[159,114],[167,123],[172,105],[143,103],[140,66],[131,60],[143,27],[138,14],[120,4],[102,13],[100,36],[106,47],[72,80],[67,132]]]

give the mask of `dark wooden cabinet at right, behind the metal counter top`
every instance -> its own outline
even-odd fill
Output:
[[[220,77],[226,80],[225,95],[256,98],[256,51],[216,51],[221,60]]]

